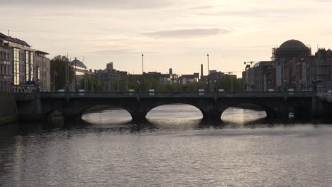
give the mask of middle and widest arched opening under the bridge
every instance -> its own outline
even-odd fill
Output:
[[[159,128],[194,128],[199,125],[203,114],[199,108],[183,103],[157,106],[149,111],[146,118]]]

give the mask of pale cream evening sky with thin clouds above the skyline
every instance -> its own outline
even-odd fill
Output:
[[[332,0],[0,0],[0,33],[131,74],[243,71],[290,39],[332,48]]]

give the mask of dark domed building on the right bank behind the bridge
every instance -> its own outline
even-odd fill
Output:
[[[271,61],[257,62],[251,67],[247,65],[243,72],[243,89],[310,90],[318,75],[317,64],[309,46],[299,40],[287,40],[280,47],[272,49]],[[326,63],[322,62],[322,66],[326,66]]]

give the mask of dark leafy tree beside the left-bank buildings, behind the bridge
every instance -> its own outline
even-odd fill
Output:
[[[68,67],[68,68],[66,68]],[[51,86],[53,91],[66,89],[66,72],[68,69],[68,86],[74,79],[74,68],[67,57],[57,55],[50,60]]]

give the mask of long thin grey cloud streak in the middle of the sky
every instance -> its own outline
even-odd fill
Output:
[[[143,33],[153,38],[203,38],[210,35],[227,34],[230,30],[223,28],[192,28],[178,30],[160,30],[151,33]]]

